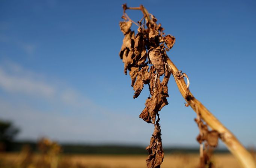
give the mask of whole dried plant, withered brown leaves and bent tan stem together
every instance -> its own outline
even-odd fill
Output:
[[[137,23],[130,19],[126,10],[141,10],[143,17]],[[235,136],[224,127],[189,90],[190,82],[185,73],[179,71],[172,63],[166,52],[174,43],[175,37],[165,34],[164,28],[157,23],[157,18],[150,14],[145,7],[127,7],[123,5],[124,21],[120,22],[120,30],[124,34],[123,44],[119,56],[124,63],[124,73],[131,77],[131,86],[134,90],[133,98],[137,98],[145,84],[149,86],[150,97],[146,99],[145,108],[139,115],[147,123],[155,125],[150,144],[146,148],[149,152],[146,164],[148,168],[158,168],[164,159],[164,151],[161,142],[161,129],[159,111],[168,104],[168,81],[172,74],[175,82],[184,97],[186,107],[190,106],[197,113],[195,119],[199,127],[197,141],[200,143],[200,168],[213,168],[211,154],[217,147],[220,138],[237,157],[242,167],[256,168],[253,157],[240,144]],[[138,26],[137,34],[131,30],[132,24]],[[160,77],[164,75],[163,80]],[[187,84],[184,81],[187,78]],[[156,121],[157,116],[157,121]],[[211,127],[212,130],[209,130]]]

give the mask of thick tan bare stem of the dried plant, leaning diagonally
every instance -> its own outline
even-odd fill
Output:
[[[140,7],[127,7],[126,9],[141,10],[146,17],[146,21],[151,23],[150,14],[143,5],[140,5]],[[178,78],[175,75],[175,73],[179,71],[178,68],[167,55],[165,59],[166,63],[168,63],[172,69],[172,75],[178,89],[188,105],[190,105],[195,112],[198,110],[200,117],[205,121],[205,123],[208,124],[211,129],[216,130],[220,134],[221,140],[226,144],[231,153],[238,159],[243,168],[256,168],[256,163],[253,156],[238,141],[238,139],[223,124],[221,124],[220,121],[218,121],[218,119],[212,115],[209,110],[203,106],[201,102],[194,98],[190,90],[187,88],[184,78]]]

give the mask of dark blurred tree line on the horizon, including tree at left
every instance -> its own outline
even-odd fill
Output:
[[[29,146],[32,151],[38,151],[38,142],[15,141],[20,129],[11,121],[0,120],[0,151],[21,151],[24,146]],[[80,154],[147,154],[142,146],[134,145],[89,145],[89,144],[61,144],[63,153]],[[227,153],[226,149],[216,150],[216,153]],[[165,153],[199,153],[197,147],[166,147]]]

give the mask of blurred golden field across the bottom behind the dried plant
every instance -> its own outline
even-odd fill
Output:
[[[49,165],[49,168],[146,168],[146,157],[146,155],[62,154],[57,158],[59,165]],[[41,167],[33,164],[33,162],[38,162],[40,159],[38,154],[34,154],[33,158],[30,158],[29,162],[31,163],[27,163],[27,166],[15,166],[17,165],[16,163],[20,163],[22,159],[24,159],[24,157],[19,153],[1,153],[0,167]],[[231,154],[215,154],[213,160],[216,168],[239,168],[238,162]],[[26,162],[28,162],[28,160]],[[196,168],[198,162],[199,156],[197,154],[169,154],[164,157],[161,168]]]

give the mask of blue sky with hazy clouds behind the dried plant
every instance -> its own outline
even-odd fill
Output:
[[[253,0],[1,0],[0,118],[21,127],[18,138],[149,143],[153,125],[138,117],[148,90],[133,99],[118,55],[123,3],[143,4],[176,37],[168,55],[190,77],[193,95],[245,146],[255,146]],[[164,146],[196,146],[196,114],[172,77],[169,95],[160,115]]]

